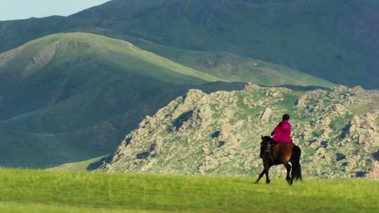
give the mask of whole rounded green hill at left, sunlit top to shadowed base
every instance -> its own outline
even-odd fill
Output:
[[[216,80],[104,36],[29,42],[0,55],[0,163],[47,167],[109,153],[166,104],[158,95]]]

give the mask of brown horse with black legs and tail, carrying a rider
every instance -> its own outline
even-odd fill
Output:
[[[262,158],[264,168],[263,171],[260,172],[258,179],[255,181],[255,184],[258,184],[259,180],[263,177],[263,174],[266,174],[266,184],[270,184],[270,167],[272,167],[273,165],[280,164],[283,164],[284,167],[286,167],[287,169],[286,181],[288,182],[288,184],[292,185],[293,180],[302,180],[300,165],[300,147],[294,144],[276,144],[272,147],[272,151],[268,152],[266,151],[267,142],[272,142],[272,138],[270,136],[262,136],[261,139],[262,142],[260,143],[260,158]],[[292,167],[289,164],[290,162]]]

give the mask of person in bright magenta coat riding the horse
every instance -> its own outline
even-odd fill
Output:
[[[282,121],[277,125],[274,131],[271,132],[272,141],[268,142],[266,151],[270,152],[272,142],[276,144],[292,143],[289,118],[290,116],[288,114],[284,114]]]

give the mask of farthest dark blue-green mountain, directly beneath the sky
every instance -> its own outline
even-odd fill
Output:
[[[146,41],[152,45],[141,46],[145,50],[194,69],[202,65],[187,51],[211,54],[204,68],[216,73],[233,64],[253,68],[239,64],[253,59],[332,83],[379,88],[378,8],[371,0],[114,0],[67,18],[0,22],[0,51],[48,34],[91,32]],[[232,62],[218,66],[225,57]]]

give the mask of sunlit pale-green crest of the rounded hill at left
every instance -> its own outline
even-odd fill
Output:
[[[36,51],[36,53],[33,52],[33,50]],[[29,53],[29,55],[25,55],[25,52]],[[220,81],[220,78],[215,78],[214,76],[201,73],[200,71],[189,67],[184,67],[171,60],[167,60],[164,57],[160,57],[159,55],[149,53],[133,46],[132,43],[127,41],[81,32],[49,35],[34,41],[29,41],[25,45],[15,48],[14,50],[9,50],[0,55],[0,65],[2,65],[0,66],[0,69],[6,66],[6,64],[11,63],[15,57],[22,54],[22,60],[16,64],[24,67],[17,67],[13,70],[17,71],[22,70],[23,68],[22,76],[25,76],[45,67],[51,60],[53,60],[54,56],[55,60],[60,60],[60,62],[58,62],[59,64],[63,64],[69,60],[77,60],[77,58],[81,58],[83,61],[83,57],[90,54],[97,57],[98,60],[112,60],[108,55],[111,54],[109,52],[124,54],[121,55],[124,59],[116,58],[116,60],[119,60],[116,61],[116,63],[121,66],[124,64],[121,64],[120,60],[126,60],[127,57],[134,57],[135,60],[139,60],[140,63],[144,62],[146,64],[166,67],[166,69],[168,69],[166,74],[173,72],[185,76],[191,76],[192,78],[200,78],[203,81]],[[62,57],[67,58],[62,60]],[[135,64],[128,65],[135,67]],[[157,71],[161,70],[157,69]],[[148,74],[149,71],[145,70],[145,72]],[[150,74],[152,74],[152,76],[156,75],[151,71]]]

